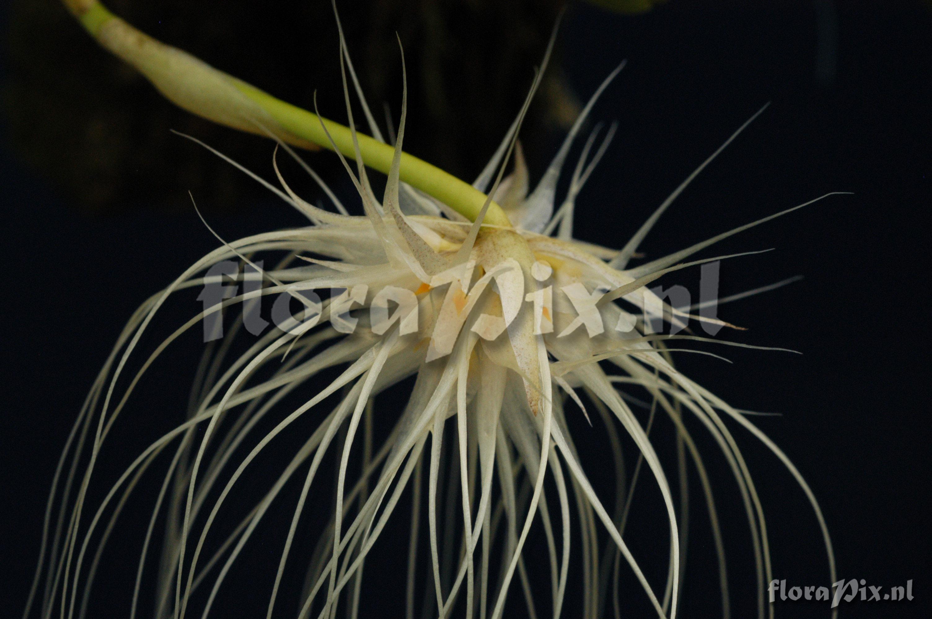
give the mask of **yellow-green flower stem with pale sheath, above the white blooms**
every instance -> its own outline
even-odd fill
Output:
[[[336,150],[354,157],[352,132],[348,127],[311,114],[291,103],[225,74],[186,52],[166,46],[120,20],[97,0],[63,0],[84,28],[103,47],[143,73],[169,100],[188,112],[214,122],[253,133],[254,121],[272,121],[281,138],[303,147],[322,146],[333,150],[322,125],[330,132]],[[357,132],[363,163],[388,174],[394,148]],[[487,195],[467,182],[407,153],[402,154],[401,180],[474,222]],[[483,222],[511,227],[498,204],[489,204]]]

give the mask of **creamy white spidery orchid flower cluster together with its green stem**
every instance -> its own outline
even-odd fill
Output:
[[[758,616],[766,613],[763,584],[773,577],[771,548],[761,497],[733,436],[734,426],[759,438],[799,482],[822,528],[834,580],[829,533],[802,475],[748,419],[747,411],[733,408],[696,384],[672,361],[672,354],[682,350],[671,347],[676,343],[747,344],[689,332],[656,332],[646,318],[659,312],[680,326],[695,318],[731,327],[718,318],[692,316],[689,308],[665,303],[648,284],[678,269],[731,258],[684,262],[723,238],[805,205],[669,256],[631,264],[674,199],[750,120],[653,212],[623,248],[609,249],[574,238],[573,218],[577,197],[605,153],[615,125],[604,134],[601,126],[592,131],[569,171],[569,188],[560,200],[556,196],[571,146],[596,99],[624,64],[596,90],[531,189],[517,135],[546,68],[548,47],[524,108],[487,167],[464,188],[465,183],[456,184],[448,175],[431,176],[427,164],[404,154],[404,99],[397,135],[389,141],[383,137],[363,98],[342,30],[340,62],[349,125],[341,128],[304,113],[313,117],[317,127],[297,134],[294,114],[281,112],[281,106],[261,107],[268,96],[240,82],[229,96],[242,102],[248,95],[240,112],[246,109],[250,114],[230,120],[234,116],[224,111],[227,103],[216,91],[210,96],[191,94],[191,88],[173,87],[170,81],[184,74],[184,67],[194,67],[191,71],[222,84],[226,96],[233,92],[229,85],[234,78],[198,64],[180,50],[158,47],[161,44],[138,31],[126,30],[131,27],[102,14],[105,9],[95,2],[69,4],[104,47],[121,57],[130,58],[131,49],[157,49],[160,60],[136,59],[135,65],[173,100],[198,107],[213,97],[212,107],[201,105],[195,111],[276,139],[279,148],[295,156],[321,184],[333,209],[314,206],[297,195],[274,159],[277,185],[240,168],[304,214],[308,225],[229,242],[221,239],[217,249],[130,317],[62,453],[26,616],[34,610],[43,617],[86,616],[92,585],[105,565],[103,549],[121,509],[140,478],[158,469],[163,477],[152,497],[148,527],[138,537],[120,540],[124,551],[133,548],[139,553],[131,602],[119,611],[130,618],[139,612],[140,599],[154,599],[157,619],[207,617],[219,597],[235,599],[237,591],[224,586],[226,577],[237,568],[244,546],[270,508],[281,506],[283,494],[292,495],[282,492],[291,484],[299,485],[300,492],[287,507],[290,525],[282,532],[275,569],[251,577],[255,590],[267,592],[267,617],[357,617],[365,605],[369,579],[374,578],[371,573],[363,577],[366,560],[384,551],[386,545],[379,543],[392,518],[406,514],[408,540],[399,564],[406,570],[403,595],[408,617],[419,607],[418,594],[429,600],[429,615],[438,617],[499,619],[506,612],[509,594],[509,616],[521,601],[529,616],[597,617],[608,613],[610,606],[617,616],[624,613],[617,582],[629,573],[656,614],[674,619],[685,553],[683,503],[691,473],[701,481],[717,550],[721,609],[728,617],[728,572],[715,484],[693,440],[694,423],[720,447],[747,512]],[[363,109],[371,137],[355,128],[352,94]],[[308,136],[340,157],[363,214],[350,214],[295,154],[292,146],[303,145]],[[512,171],[505,176],[509,162]],[[427,168],[418,168],[421,164]],[[367,166],[387,172],[380,198]],[[430,173],[418,176],[418,169]],[[263,263],[277,256],[276,266],[261,268],[260,256],[266,258]],[[159,308],[179,290],[204,285],[212,267],[230,260],[252,268],[253,281],[260,283],[244,286],[241,293],[193,316],[131,374],[132,362],[141,353],[138,344]],[[245,281],[247,274],[243,271],[236,277]],[[344,292],[323,301],[309,296],[330,289]],[[249,303],[273,294],[289,295],[304,308],[304,316],[290,316],[277,329],[254,338],[239,357],[226,357],[229,343],[241,335],[236,327],[229,330],[221,345],[205,353],[186,417],[179,418],[171,431],[153,437],[116,481],[103,486],[105,493],[89,492],[104,477],[99,454],[106,449],[111,429],[117,423],[132,423],[124,418],[132,414],[132,393],[145,370],[200,321],[225,310],[245,313]],[[241,318],[242,314],[239,325]],[[117,382],[129,376],[128,385],[126,378]],[[380,397],[404,381],[413,385],[404,407]],[[647,401],[636,397],[638,392]],[[285,409],[281,402],[289,396],[303,403]],[[646,413],[636,414],[637,405],[649,411],[646,423]],[[595,413],[591,417],[590,409]],[[594,432],[609,437],[610,453],[584,454],[577,449],[568,421],[576,414],[584,414]],[[675,432],[675,478],[649,435],[657,414],[665,415]],[[305,427],[295,422],[308,418],[316,429],[302,436],[303,445],[283,469],[266,471],[266,490],[255,495],[251,505],[227,500],[244,475],[253,473],[263,452],[276,449],[277,437]],[[376,418],[391,420],[391,431],[376,433]],[[271,429],[257,432],[263,421],[271,423]],[[623,443],[637,454],[633,478],[624,474]],[[322,474],[328,455],[336,462],[332,492],[326,490],[330,476]],[[667,557],[661,582],[651,582],[624,537],[631,491],[642,464],[663,499],[657,516],[667,523],[665,539],[657,540]],[[590,466],[616,471],[615,496],[610,501],[598,495],[587,477]],[[98,495],[103,498],[89,499]],[[309,504],[328,502],[333,505],[329,518],[308,518]],[[224,529],[226,518],[218,518],[224,511],[239,514],[239,524]],[[535,523],[542,531],[548,560],[531,564],[525,551]],[[579,549],[574,547],[578,540]],[[392,545],[391,552],[399,552],[399,546]],[[160,558],[153,561],[159,550]],[[303,574],[303,586],[289,585],[295,572]],[[580,582],[577,573],[582,573],[582,593],[577,596],[581,607],[565,608],[568,588]],[[543,595],[545,588],[549,595]]]

